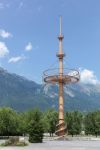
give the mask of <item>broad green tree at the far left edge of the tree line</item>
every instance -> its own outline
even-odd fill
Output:
[[[11,108],[0,109],[0,135],[10,136],[19,134],[19,119]]]

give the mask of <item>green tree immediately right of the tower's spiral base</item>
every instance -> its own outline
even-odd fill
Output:
[[[82,130],[82,114],[78,111],[67,112],[65,115],[68,134],[77,135]]]

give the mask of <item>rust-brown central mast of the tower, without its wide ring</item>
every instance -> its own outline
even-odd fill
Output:
[[[59,85],[59,120],[58,120],[58,124],[57,124],[57,131],[56,134],[58,136],[62,136],[65,134],[65,123],[64,123],[64,97],[63,97],[63,58],[65,56],[65,54],[63,53],[63,48],[62,48],[62,40],[63,40],[63,35],[62,35],[62,17],[60,17],[60,34],[58,36],[59,39],[59,52],[57,54],[57,57],[59,59],[59,81],[58,81],[58,85]]]

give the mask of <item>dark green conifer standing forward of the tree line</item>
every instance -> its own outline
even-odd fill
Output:
[[[43,123],[42,123],[42,113],[35,109],[28,112],[28,133],[29,142],[31,143],[41,143],[43,140]]]

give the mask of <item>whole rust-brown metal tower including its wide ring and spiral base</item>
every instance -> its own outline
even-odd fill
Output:
[[[59,52],[57,57],[59,59],[59,68],[49,69],[44,71],[43,80],[45,83],[52,83],[59,85],[59,118],[57,124],[56,134],[58,136],[65,135],[65,130],[67,127],[64,122],[64,97],[63,97],[63,87],[65,84],[76,83],[79,81],[80,76],[77,70],[67,69],[63,67],[63,58],[65,54],[63,53],[62,48],[62,17],[60,17],[60,34],[58,36],[59,39]]]

